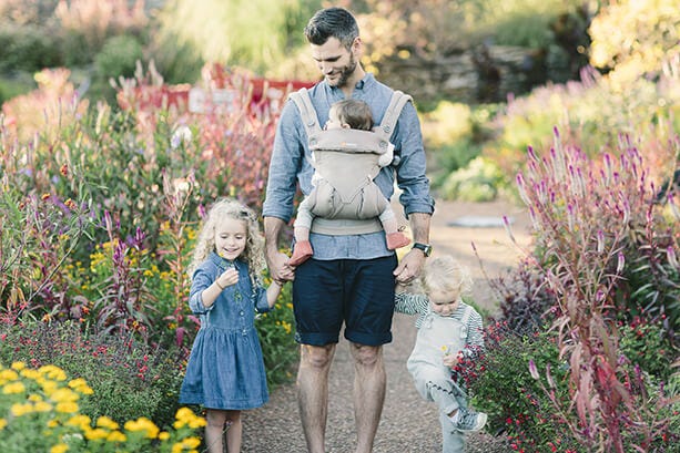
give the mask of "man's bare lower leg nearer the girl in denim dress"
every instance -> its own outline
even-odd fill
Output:
[[[324,453],[326,418],[328,414],[328,371],[335,343],[302,344],[297,370],[297,402],[302,429],[309,453]]]

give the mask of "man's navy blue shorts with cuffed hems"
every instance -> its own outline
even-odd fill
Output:
[[[396,256],[375,259],[308,259],[295,269],[295,339],[302,344],[380,346],[392,341]]]

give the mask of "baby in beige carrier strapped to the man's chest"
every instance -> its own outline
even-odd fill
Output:
[[[311,143],[315,168],[313,188],[297,208],[291,265],[298,266],[313,256],[309,230],[317,216],[326,219],[378,217],[388,249],[409,244],[398,230],[389,200],[373,181],[394,159],[392,143],[384,148],[372,146],[373,125],[371,107],[364,101],[346,99],[331,106],[324,131]]]

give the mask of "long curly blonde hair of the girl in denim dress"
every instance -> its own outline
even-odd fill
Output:
[[[199,233],[193,260],[187,268],[187,272],[193,276],[199,266],[215,250],[215,228],[226,218],[245,222],[247,239],[245,249],[238,258],[248,265],[251,281],[256,284],[266,267],[264,237],[260,233],[260,223],[255,212],[233,198],[217,199],[207,212],[201,233]]]

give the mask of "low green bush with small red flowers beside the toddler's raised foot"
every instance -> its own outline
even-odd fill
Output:
[[[548,370],[552,382],[548,393],[531,377],[530,362]],[[564,414],[556,412],[554,401],[565,405],[570,401],[568,370],[554,333],[520,334],[497,322],[486,329],[484,357],[464,375],[473,406],[489,414],[487,430],[504,432],[512,450],[565,452],[578,442],[565,430]]]

